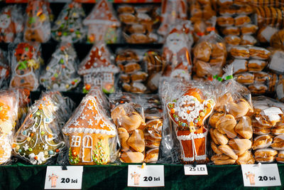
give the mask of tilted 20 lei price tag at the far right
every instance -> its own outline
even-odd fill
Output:
[[[244,186],[281,186],[277,164],[241,165]]]

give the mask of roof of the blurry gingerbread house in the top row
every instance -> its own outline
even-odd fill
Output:
[[[83,21],[84,25],[104,24],[120,26],[119,19],[114,16],[114,10],[107,0],[99,1],[89,16]]]

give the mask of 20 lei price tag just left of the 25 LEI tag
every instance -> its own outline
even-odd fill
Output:
[[[163,165],[129,165],[127,186],[165,186]]]

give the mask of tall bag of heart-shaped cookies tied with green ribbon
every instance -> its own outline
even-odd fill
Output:
[[[253,164],[251,93],[234,80],[232,66],[225,72],[224,83],[217,86],[214,113],[209,118],[211,161],[216,165]]]

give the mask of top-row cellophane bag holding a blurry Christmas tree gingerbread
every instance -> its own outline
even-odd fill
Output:
[[[76,43],[86,35],[83,27],[84,10],[82,4],[71,2],[66,4],[55,21],[51,34],[55,41]]]

